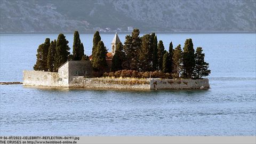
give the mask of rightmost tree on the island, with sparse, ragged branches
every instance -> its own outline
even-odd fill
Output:
[[[209,70],[209,63],[204,61],[204,53],[202,47],[196,48],[195,53],[195,68],[193,71],[194,78],[202,78],[204,76],[209,76],[211,70]]]

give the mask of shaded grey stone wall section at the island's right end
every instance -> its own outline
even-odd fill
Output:
[[[150,89],[208,89],[209,80],[205,79],[160,79],[150,80]]]

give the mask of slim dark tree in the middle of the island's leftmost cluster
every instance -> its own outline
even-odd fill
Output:
[[[47,55],[47,67],[49,71],[54,71],[54,56],[55,56],[55,49],[56,49],[56,39],[54,41],[51,41],[51,44],[48,49],[48,55]]]

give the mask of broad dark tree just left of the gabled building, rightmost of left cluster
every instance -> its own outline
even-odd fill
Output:
[[[58,71],[58,68],[68,60],[68,56],[70,54],[69,50],[70,48],[66,37],[63,34],[59,34],[56,43],[54,71]]]

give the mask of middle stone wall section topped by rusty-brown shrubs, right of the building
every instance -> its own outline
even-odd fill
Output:
[[[108,79],[108,78],[81,78],[70,79],[69,87],[85,87],[100,89],[134,89],[149,90],[149,79]]]

